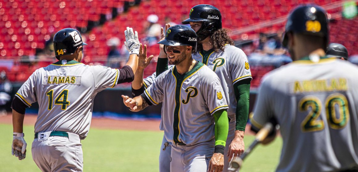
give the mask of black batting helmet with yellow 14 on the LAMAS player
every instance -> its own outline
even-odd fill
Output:
[[[73,28],[64,28],[53,37],[53,48],[58,60],[60,56],[73,54],[82,45],[87,45],[87,43],[82,41],[81,34]]]

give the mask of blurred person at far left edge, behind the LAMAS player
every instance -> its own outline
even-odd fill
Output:
[[[0,116],[6,115],[6,104],[10,103],[11,100],[11,92],[13,90],[13,85],[6,77],[6,72],[0,72]]]

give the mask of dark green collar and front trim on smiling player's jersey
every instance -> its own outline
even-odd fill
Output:
[[[175,108],[174,108],[174,122],[173,122],[173,131],[174,131],[174,135],[173,135],[173,140],[175,143],[180,143],[179,141],[179,122],[180,122],[180,90],[182,89],[182,84],[184,82],[184,80],[188,79],[191,75],[193,75],[195,72],[199,71],[200,68],[202,68],[204,66],[203,63],[200,63],[197,61],[197,64],[194,66],[194,68],[184,74],[179,74],[178,71],[176,71],[176,66],[174,66],[173,68],[173,76],[175,78]]]

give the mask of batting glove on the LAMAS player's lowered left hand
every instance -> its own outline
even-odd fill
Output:
[[[11,154],[23,160],[26,157],[26,142],[24,140],[24,133],[14,132],[13,145],[11,145]]]

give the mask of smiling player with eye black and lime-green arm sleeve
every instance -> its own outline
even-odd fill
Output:
[[[197,35],[190,27],[170,27],[158,43],[175,66],[156,77],[143,94],[133,99],[122,95],[124,104],[140,111],[163,102],[164,136],[172,143],[170,171],[221,172],[228,105],[219,78],[192,58]]]

